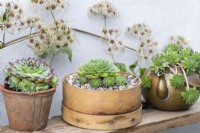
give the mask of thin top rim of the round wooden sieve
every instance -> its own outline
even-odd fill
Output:
[[[121,72],[120,72],[121,73]],[[86,91],[86,92],[94,92],[94,93],[109,93],[109,92],[122,92],[122,91],[128,91],[128,90],[133,90],[133,89],[135,89],[135,88],[138,88],[138,87],[140,87],[141,86],[141,83],[142,83],[142,81],[141,81],[141,79],[138,77],[138,79],[139,79],[139,83],[137,84],[137,86],[134,86],[133,88],[126,88],[126,89],[123,89],[123,90],[117,90],[117,91],[115,91],[115,90],[100,90],[100,91],[96,91],[96,90],[88,90],[88,89],[82,89],[82,88],[80,88],[80,87],[76,87],[76,86],[73,86],[73,85],[71,85],[71,84],[69,84],[67,81],[66,81],[66,79],[67,79],[67,77],[69,77],[70,75],[72,75],[72,74],[74,74],[74,73],[71,73],[71,74],[68,74],[67,76],[65,76],[64,78],[63,78],[63,83],[65,83],[65,84],[67,84],[67,85],[69,85],[70,87],[73,87],[73,88],[75,88],[75,89],[78,89],[78,90],[81,90],[81,91]],[[135,74],[130,74],[130,73],[125,73],[125,72],[122,72],[122,74],[129,74],[129,75],[134,75],[134,76],[136,76]],[[136,76],[137,77],[137,76]]]

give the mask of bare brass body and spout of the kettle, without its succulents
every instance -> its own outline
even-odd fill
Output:
[[[150,78],[152,87],[142,89],[142,95],[152,107],[167,111],[186,110],[190,107],[181,97],[181,92],[185,90],[185,87],[175,89],[171,86],[169,79],[165,79],[165,75],[159,77],[151,72]]]

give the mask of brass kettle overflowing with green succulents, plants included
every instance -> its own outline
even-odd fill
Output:
[[[199,73],[199,55],[191,48],[168,44],[152,59],[142,82],[146,101],[163,110],[185,110],[192,106],[200,93],[188,77]]]

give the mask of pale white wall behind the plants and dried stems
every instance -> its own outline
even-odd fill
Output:
[[[2,1],[2,0],[1,0]],[[26,8],[29,15],[33,13],[43,14],[45,21],[52,21],[50,14],[44,14],[33,9],[27,0],[20,0]],[[69,9],[63,17],[72,27],[87,30],[96,34],[100,33],[103,27],[103,19],[88,18],[88,7],[98,0],[69,0]],[[189,41],[192,48],[200,50],[200,1],[199,0],[113,0],[115,7],[119,10],[120,16],[117,20],[108,20],[109,27],[121,29],[122,38],[127,45],[136,48],[137,41],[124,32],[127,26],[137,22],[145,22],[150,25],[153,31],[153,37],[159,42],[162,48],[169,35],[183,35]],[[62,16],[62,15],[59,15]],[[58,16],[56,16],[58,17]],[[47,20],[48,19],[48,20]],[[22,33],[24,34],[24,33]],[[0,33],[0,37],[2,34]],[[6,38],[10,40],[18,35],[12,35]],[[59,77],[59,86],[54,95],[50,116],[61,114],[62,101],[62,78],[69,73],[77,70],[78,66],[92,58],[105,58],[111,60],[111,57],[105,53],[106,44],[88,35],[76,33],[77,41],[73,47],[73,61],[70,63],[65,55],[55,57],[52,67]],[[18,58],[34,57],[34,53],[26,46],[27,42],[22,42],[0,51],[0,83],[3,84],[3,68],[9,61],[15,61]],[[50,61],[50,57],[44,59]],[[129,50],[124,54],[116,56],[118,62],[124,62],[130,65],[135,60],[135,54]],[[0,120],[2,124],[7,124],[7,116],[4,107],[3,98],[0,95]],[[28,113],[28,112],[27,112]]]

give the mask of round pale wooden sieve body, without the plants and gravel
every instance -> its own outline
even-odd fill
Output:
[[[141,121],[141,82],[131,89],[94,91],[70,85],[68,76],[63,79],[62,117],[66,122],[82,128],[111,130]]]

